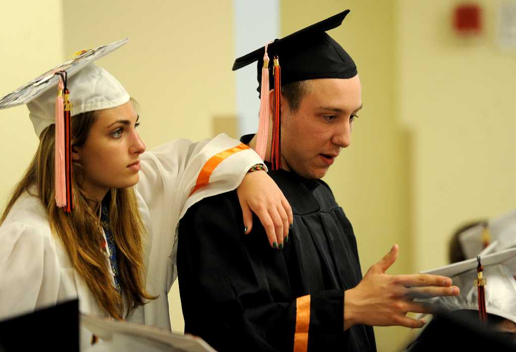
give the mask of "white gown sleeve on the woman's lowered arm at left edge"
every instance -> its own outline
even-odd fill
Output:
[[[15,221],[0,228],[0,241],[0,319],[55,305],[59,265],[51,239]]]

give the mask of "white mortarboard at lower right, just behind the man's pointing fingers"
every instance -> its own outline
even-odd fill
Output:
[[[516,323],[516,248],[488,254],[480,258],[483,265],[483,278],[486,297],[486,311]],[[431,298],[432,302],[446,311],[477,310],[478,290],[475,285],[477,259],[468,259],[437,269],[421,271],[421,274],[442,275],[451,278],[458,286],[458,296]]]

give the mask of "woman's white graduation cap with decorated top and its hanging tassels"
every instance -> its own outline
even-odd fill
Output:
[[[0,109],[27,104],[38,137],[48,126],[56,124],[55,198],[57,206],[68,213],[73,209],[71,117],[129,101],[129,94],[117,79],[92,63],[128,40],[80,51],[0,99]]]

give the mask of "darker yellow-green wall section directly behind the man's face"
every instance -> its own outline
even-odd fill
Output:
[[[282,35],[347,8],[341,27],[330,35],[357,63],[364,107],[354,125],[351,146],[342,151],[325,181],[353,224],[365,274],[394,243],[400,257],[388,271],[412,271],[409,138],[397,122],[396,7],[392,1],[281,2]],[[379,351],[400,350],[410,330],[375,328]]]

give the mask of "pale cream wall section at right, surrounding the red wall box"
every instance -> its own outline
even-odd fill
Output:
[[[516,51],[497,46],[502,2],[476,2],[485,28],[474,40],[451,29],[457,3],[398,6],[398,115],[414,131],[416,270],[447,263],[448,238],[462,222],[516,205]]]

